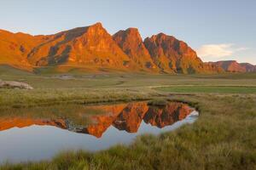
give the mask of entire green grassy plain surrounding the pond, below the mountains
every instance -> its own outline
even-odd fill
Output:
[[[1,68],[1,67],[0,67]],[[9,68],[8,68],[9,69]],[[173,99],[200,111],[198,120],[160,136],[99,152],[68,151],[52,161],[4,164],[0,169],[255,169],[256,74],[35,75],[7,68],[0,79],[35,89],[0,89],[0,111],[66,103]],[[17,113],[15,113],[17,114]]]

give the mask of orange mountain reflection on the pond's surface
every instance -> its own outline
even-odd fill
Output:
[[[90,116],[87,126],[73,124],[67,119],[33,119],[27,117],[0,118],[0,131],[12,127],[28,127],[31,125],[48,125],[67,129],[76,133],[88,133],[100,138],[108,127],[113,125],[119,130],[136,133],[142,121],[156,127],[166,127],[188,116],[193,110],[189,105],[169,102],[164,106],[147,105],[147,102],[134,102],[120,105],[88,106],[101,110],[104,114]],[[83,116],[83,115],[79,115]]]

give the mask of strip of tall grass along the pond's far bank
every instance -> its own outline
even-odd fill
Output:
[[[150,99],[158,94],[142,88],[0,89],[0,111],[9,108],[63,104],[91,104]]]

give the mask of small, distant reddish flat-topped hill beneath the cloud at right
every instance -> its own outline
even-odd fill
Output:
[[[238,63],[236,60],[222,60],[217,62],[208,62],[209,65],[215,65],[227,72],[255,72],[256,65],[249,63]]]

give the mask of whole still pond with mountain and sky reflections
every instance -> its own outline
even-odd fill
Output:
[[[145,101],[7,111],[0,116],[0,163],[47,160],[61,150],[131,144],[138,135],[172,131],[195,122],[197,116],[183,103],[154,106]]]

